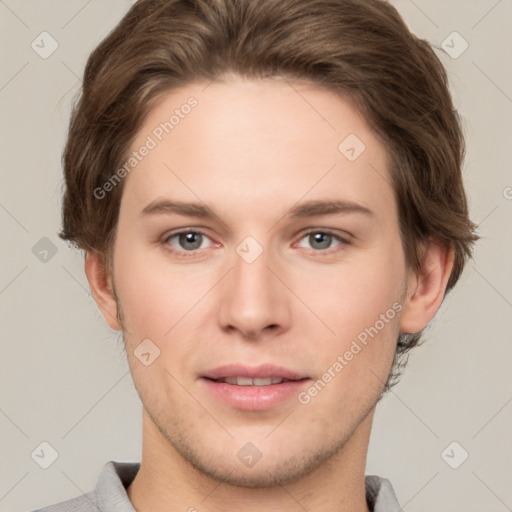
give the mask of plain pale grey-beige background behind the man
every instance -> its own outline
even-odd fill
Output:
[[[56,234],[71,100],[131,3],[0,0],[0,511],[77,496],[106,461],[140,460],[121,339],[90,297],[82,255]],[[482,240],[378,406],[366,472],[389,478],[408,512],[512,510],[512,1],[392,3],[448,69]],[[43,442],[58,453],[47,469],[33,456]]]

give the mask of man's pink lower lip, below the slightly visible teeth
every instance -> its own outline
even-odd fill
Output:
[[[264,411],[296,397],[311,379],[302,379],[269,386],[237,386],[226,382],[201,379],[208,391],[224,403],[246,411]]]

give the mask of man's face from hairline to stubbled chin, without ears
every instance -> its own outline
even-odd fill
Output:
[[[238,77],[168,93],[143,145],[113,286],[145,413],[206,475],[297,480],[357,434],[391,369],[407,272],[385,149],[331,92]]]

